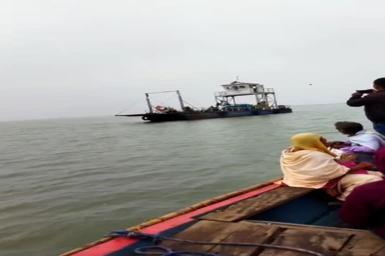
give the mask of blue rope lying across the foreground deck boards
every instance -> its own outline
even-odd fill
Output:
[[[289,246],[282,246],[282,245],[273,245],[273,244],[265,244],[265,243],[250,243],[250,242],[207,242],[207,241],[185,240],[185,239],[179,239],[179,238],[160,236],[159,234],[142,233],[142,232],[138,232],[138,231],[134,231],[134,230],[114,230],[114,231],[108,232],[106,234],[106,236],[112,236],[112,237],[125,236],[125,237],[137,238],[137,239],[152,238],[154,243],[158,243],[159,241],[162,241],[162,240],[168,240],[168,241],[176,241],[176,242],[188,242],[188,243],[194,243],[194,244],[259,246],[259,247],[264,247],[264,248],[283,249],[283,250],[303,252],[303,253],[307,253],[307,254],[315,255],[315,256],[325,256],[324,254],[313,251],[313,250],[301,249],[301,248],[295,248],[295,247],[289,247]],[[171,253],[171,254],[168,254],[168,253]],[[172,255],[172,253],[174,253],[174,252],[167,250],[165,253],[162,254],[162,256],[167,256],[167,255],[169,256],[169,255]],[[202,254],[202,252],[200,252],[200,251],[195,251],[194,253],[201,253],[201,255],[207,255],[207,254]],[[207,256],[209,256],[209,255],[207,255]]]

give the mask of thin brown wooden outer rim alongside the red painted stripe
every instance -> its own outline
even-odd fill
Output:
[[[282,179],[282,177],[279,177],[279,178],[271,179],[271,180],[268,180],[268,181],[265,181],[265,182],[262,182],[262,183],[258,183],[258,184],[255,184],[255,185],[252,185],[252,186],[249,186],[249,187],[246,187],[246,188],[242,188],[242,189],[239,189],[239,190],[236,190],[236,191],[233,191],[233,192],[225,193],[225,194],[213,197],[211,199],[207,199],[205,201],[198,202],[198,203],[195,203],[195,204],[190,205],[190,206],[186,206],[186,207],[184,207],[182,209],[179,209],[177,211],[173,211],[173,212],[167,213],[167,214],[159,216],[159,217],[151,218],[151,219],[146,220],[146,221],[144,221],[144,222],[142,222],[140,224],[128,227],[126,230],[141,230],[143,228],[146,228],[146,227],[158,224],[158,223],[166,221],[166,220],[170,220],[170,219],[178,217],[178,216],[182,216],[184,214],[196,211],[198,209],[202,209],[202,208],[205,208],[207,206],[210,206],[210,205],[213,205],[213,204],[216,204],[216,203],[219,203],[219,202],[231,199],[233,197],[240,196],[240,195],[243,195],[243,194],[246,194],[246,193],[249,193],[249,192],[253,192],[255,190],[267,187],[269,185],[273,185],[273,184],[275,184],[276,181],[279,181],[281,179]],[[277,186],[279,186],[279,185],[277,185]],[[274,187],[274,188],[276,188],[276,187]],[[274,188],[272,188],[272,189],[274,189]],[[199,213],[197,215],[199,215]],[[191,220],[193,220],[193,219],[191,219]],[[78,248],[75,248],[73,250],[64,252],[64,253],[60,254],[59,256],[74,255],[75,253],[84,251],[86,249],[89,249],[91,247],[94,247],[96,245],[102,244],[104,242],[110,241],[110,240],[115,239],[115,238],[116,237],[111,237],[111,236],[104,237],[104,238],[98,239],[96,241],[93,241],[91,243],[87,243],[87,244],[85,244],[82,247],[78,247]]]

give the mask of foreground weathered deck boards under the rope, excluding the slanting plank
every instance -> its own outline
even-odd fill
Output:
[[[329,228],[266,221],[201,220],[174,238],[210,242],[251,242],[284,245],[323,253],[325,256],[385,256],[385,240],[366,230]],[[172,250],[197,250],[222,256],[306,256],[309,254],[258,246],[194,244],[164,241]]]

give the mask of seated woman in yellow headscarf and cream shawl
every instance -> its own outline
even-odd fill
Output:
[[[371,167],[362,162],[343,166],[335,161],[335,155],[327,149],[327,141],[321,135],[300,133],[291,137],[292,146],[281,155],[283,183],[288,186],[332,189],[338,199],[345,200],[354,187],[382,180],[371,174],[349,174],[350,170]]]

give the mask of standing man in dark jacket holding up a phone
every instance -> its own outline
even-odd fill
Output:
[[[362,92],[351,94],[349,106],[364,106],[367,119],[373,123],[373,128],[385,135],[385,77],[373,81],[373,89],[366,96]]]

